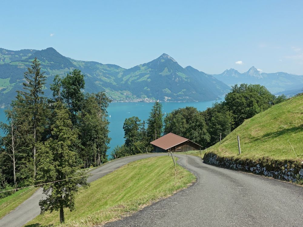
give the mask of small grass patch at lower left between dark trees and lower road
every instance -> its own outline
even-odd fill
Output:
[[[0,199],[0,219],[14,210],[22,202],[32,196],[37,188],[25,188],[18,190],[14,194]]]

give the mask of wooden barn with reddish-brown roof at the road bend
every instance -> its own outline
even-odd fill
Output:
[[[154,146],[153,152],[186,152],[200,150],[202,146],[174,133],[168,133],[163,137],[151,142]]]

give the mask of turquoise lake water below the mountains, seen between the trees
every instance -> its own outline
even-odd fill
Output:
[[[221,97],[224,100],[224,97]],[[221,101],[221,100],[218,100]],[[211,107],[212,104],[216,102],[207,101],[207,102],[162,102],[163,113],[170,113],[172,110],[183,108],[187,106],[196,107],[198,110],[203,111],[206,110],[207,107]],[[109,137],[112,138],[108,149],[107,154],[110,154],[112,150],[117,145],[122,145],[124,143],[124,131],[123,131],[123,123],[125,118],[136,116],[141,121],[147,121],[149,117],[149,112],[151,111],[154,103],[144,103],[144,102],[116,102],[111,103],[107,109],[109,124]],[[165,116],[164,116],[165,117]],[[0,110],[0,121],[5,121],[4,109]],[[147,125],[146,125],[147,126]],[[0,132],[3,135],[3,132]]]

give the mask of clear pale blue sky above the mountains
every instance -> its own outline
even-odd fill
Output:
[[[0,48],[130,68],[166,53],[219,74],[303,74],[303,1],[1,1]]]

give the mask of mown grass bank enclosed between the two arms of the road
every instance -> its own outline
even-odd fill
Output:
[[[123,167],[127,168],[92,182],[88,189],[81,188],[76,196],[75,211],[65,209],[63,226],[92,226],[121,218],[195,181],[193,174],[177,166],[175,185],[174,165],[168,156],[138,160]],[[58,212],[45,213],[26,226],[58,225],[58,221]]]

